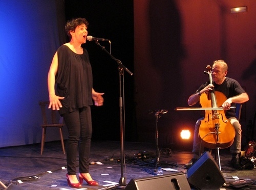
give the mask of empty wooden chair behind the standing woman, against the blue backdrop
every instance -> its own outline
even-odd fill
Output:
[[[65,154],[65,147],[63,142],[63,135],[62,135],[62,127],[65,125],[63,124],[63,118],[59,118],[59,122],[56,121],[56,110],[48,109],[49,101],[39,101],[39,105],[41,107],[41,113],[42,113],[42,122],[40,126],[42,127],[42,138],[41,138],[41,154],[44,151],[45,146],[45,140],[46,140],[46,129],[47,127],[58,127],[59,128],[59,135],[60,135],[60,141],[62,145],[63,154]],[[51,113],[49,113],[51,112]],[[49,119],[48,114],[49,113]],[[50,119],[51,115],[51,119]]]

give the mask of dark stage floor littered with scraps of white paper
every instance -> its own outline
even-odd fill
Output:
[[[149,183],[153,180],[156,168],[156,146],[154,144],[125,142],[125,164],[122,166],[120,164],[120,152],[120,142],[93,141],[90,156],[90,174],[94,180],[99,182],[99,186],[89,186],[83,183],[82,189],[103,189],[120,184],[120,181],[126,186],[132,179],[147,178]],[[184,168],[184,164],[193,157],[189,150],[181,151],[174,147],[167,147],[160,148],[160,152],[160,165],[165,169],[163,176],[175,178],[176,175],[183,172],[185,178],[187,178],[187,170]],[[142,158],[139,156],[140,153]],[[237,189],[229,183],[236,181],[234,178],[251,182],[252,184],[247,185],[246,189],[256,189],[255,168],[252,170],[232,169],[230,156],[228,149],[220,150],[221,172],[226,181],[226,186],[222,186],[221,189]],[[151,164],[152,162],[153,164]],[[219,165],[218,161],[217,165]],[[7,187],[9,185],[7,189],[74,189],[67,185],[66,155],[63,154],[58,141],[47,142],[42,155],[40,155],[40,144],[0,148],[0,167],[0,181]],[[219,170],[219,168],[217,169]],[[207,170],[207,172],[213,171],[212,165],[204,170]],[[200,180],[202,181],[199,178],[198,181]],[[125,186],[117,186],[111,189],[125,188]],[[161,187],[160,184],[159,186]],[[193,186],[190,188],[197,189]],[[0,189],[5,188],[0,184]]]

